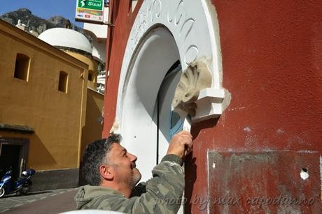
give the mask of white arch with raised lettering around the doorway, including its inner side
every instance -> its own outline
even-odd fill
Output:
[[[176,60],[180,59],[182,70],[191,61],[204,61],[213,76],[212,88],[200,93],[203,104],[198,106],[197,116],[207,118],[223,111],[221,101],[225,93],[221,89],[221,49],[216,17],[216,10],[208,0],[146,0],[142,3],[123,58],[116,117],[123,144],[134,153],[149,152],[147,158],[142,159],[140,155],[138,162],[144,178],[149,177],[148,172],[155,165],[156,139],[150,136],[156,133],[155,99],[165,73]]]

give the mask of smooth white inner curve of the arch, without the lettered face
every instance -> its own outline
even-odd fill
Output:
[[[123,145],[130,152],[141,154],[137,164],[147,179],[156,162],[155,101],[167,70],[179,59],[179,52],[169,31],[158,28],[148,33],[137,53],[123,96],[120,122]]]

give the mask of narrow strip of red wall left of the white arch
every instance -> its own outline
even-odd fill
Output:
[[[130,35],[133,22],[143,1],[137,3],[132,13],[132,0],[110,1],[110,20],[114,27],[109,27],[107,38],[106,68],[110,76],[106,79],[106,93],[104,97],[104,128],[103,137],[109,135],[116,115],[118,95],[118,81],[122,67],[127,38]]]

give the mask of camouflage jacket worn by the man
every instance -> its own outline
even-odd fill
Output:
[[[182,160],[166,155],[155,166],[151,178],[137,185],[132,197],[99,186],[85,185],[76,194],[76,209],[99,209],[122,213],[177,213],[184,190]]]

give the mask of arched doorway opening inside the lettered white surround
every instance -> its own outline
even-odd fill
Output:
[[[175,115],[171,102],[181,75],[179,59],[172,34],[158,26],[146,34],[130,65],[120,129],[123,145],[139,156],[143,181],[151,178],[151,169],[167,152],[169,120]]]

